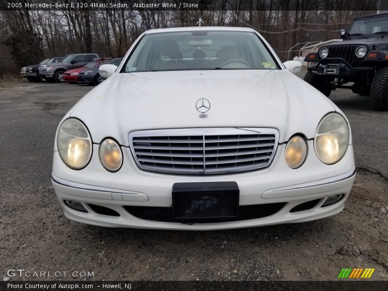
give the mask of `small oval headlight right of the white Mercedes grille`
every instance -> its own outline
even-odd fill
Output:
[[[299,135],[293,136],[288,141],[284,152],[284,158],[288,166],[292,169],[299,168],[305,162],[306,156],[307,144],[305,139]]]

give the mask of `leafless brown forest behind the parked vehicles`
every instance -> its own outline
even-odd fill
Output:
[[[67,2],[68,0],[57,0]],[[96,0],[84,0],[84,2]],[[0,71],[75,52],[123,56],[148,29],[197,26],[250,26],[279,51],[294,44],[339,38],[353,17],[374,14],[377,0],[327,0],[314,10],[311,0],[213,0],[223,10],[153,11],[91,8],[57,11],[0,11]],[[360,10],[346,10],[348,7]],[[206,9],[206,8],[205,8]],[[280,53],[283,61],[287,53]]]

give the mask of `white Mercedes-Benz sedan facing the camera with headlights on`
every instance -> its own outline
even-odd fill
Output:
[[[248,28],[143,33],[59,124],[65,215],[211,230],[339,213],[356,175],[349,122],[300,69]]]

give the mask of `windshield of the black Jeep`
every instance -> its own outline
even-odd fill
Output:
[[[350,35],[378,32],[388,32],[388,16],[355,20],[349,30]]]

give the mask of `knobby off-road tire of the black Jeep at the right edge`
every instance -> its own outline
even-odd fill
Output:
[[[388,67],[381,68],[374,75],[370,98],[374,109],[388,111]]]

